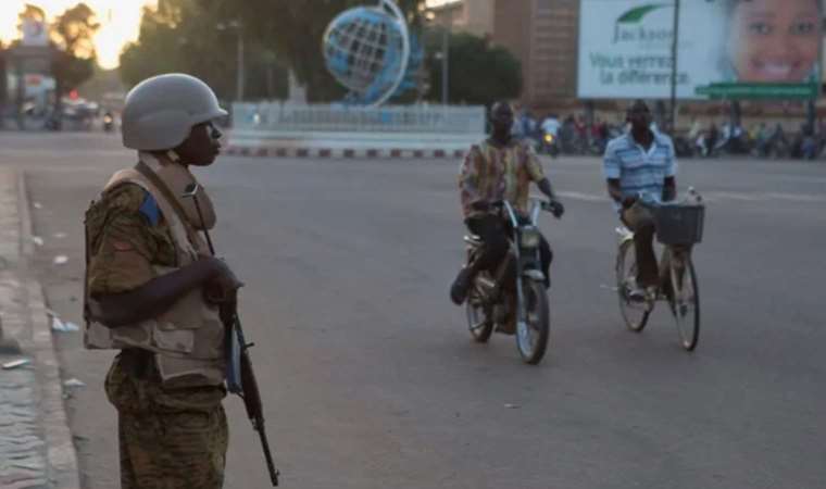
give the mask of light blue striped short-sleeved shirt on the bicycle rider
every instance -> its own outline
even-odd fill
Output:
[[[664,180],[677,174],[674,145],[668,136],[655,133],[648,151],[634,140],[630,133],[611,140],[605,149],[605,178],[620,180],[623,197],[642,192],[660,201]],[[620,204],[615,204],[620,209]]]

